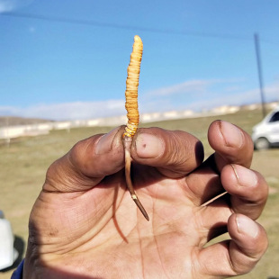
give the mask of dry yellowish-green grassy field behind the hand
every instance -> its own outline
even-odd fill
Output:
[[[207,129],[211,121],[222,119],[237,124],[251,133],[261,119],[258,111],[243,111],[220,117],[163,121],[142,125],[157,126],[170,130],[186,130],[202,140],[206,157],[212,152],[207,143]],[[12,223],[17,244],[25,249],[28,237],[28,218],[31,206],[40,192],[48,166],[64,155],[76,141],[110,128],[84,128],[70,131],[57,130],[49,135],[14,139],[7,147],[0,144],[0,209]],[[279,149],[255,152],[254,169],[265,175],[270,185],[269,199],[259,222],[267,229],[270,245],[265,257],[249,275],[238,278],[279,278]],[[0,273],[0,279],[10,278],[12,271]]]

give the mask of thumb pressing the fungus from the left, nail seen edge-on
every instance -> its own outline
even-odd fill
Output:
[[[43,189],[58,192],[86,191],[124,166],[118,127],[107,134],[81,140],[64,156],[49,166]]]

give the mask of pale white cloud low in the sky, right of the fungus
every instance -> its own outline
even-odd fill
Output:
[[[142,96],[144,112],[174,109],[201,111],[223,104],[259,103],[259,89],[247,90],[244,79],[190,80],[148,91]],[[264,89],[266,102],[279,99],[279,83]],[[152,110],[153,109],[153,110]]]

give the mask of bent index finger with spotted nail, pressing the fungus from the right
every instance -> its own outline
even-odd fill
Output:
[[[132,158],[142,165],[156,166],[167,177],[182,177],[202,164],[200,140],[182,130],[141,128],[133,140]]]

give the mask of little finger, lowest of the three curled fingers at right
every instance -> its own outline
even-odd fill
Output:
[[[204,275],[244,275],[265,254],[266,231],[245,215],[233,214],[228,222],[230,240],[202,248],[199,253]]]

